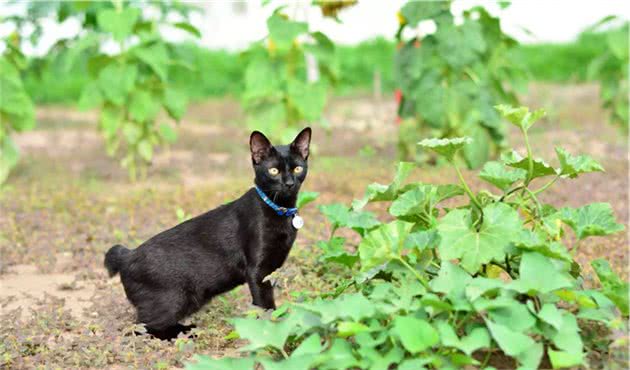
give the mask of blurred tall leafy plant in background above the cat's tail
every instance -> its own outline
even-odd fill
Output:
[[[156,10],[157,16],[145,16],[146,7]],[[144,170],[144,164],[150,163],[156,145],[177,138],[171,125],[156,121],[161,111],[174,120],[183,116],[187,95],[173,87],[169,75],[178,68],[191,67],[176,58],[174,46],[162,39],[159,27],[177,28],[199,37],[191,24],[168,20],[172,14],[186,19],[191,9],[176,1],[35,2],[28,5],[23,17],[11,20],[18,30],[32,25],[32,43],[41,35],[39,20],[50,14],[56,15],[58,22],[75,18],[81,23],[80,32],[60,40],[48,52],[49,59],[61,60],[70,69],[77,59],[89,55],[90,81],[82,89],[79,108],[100,111],[99,129],[108,154],[113,156],[124,148],[121,164],[135,179],[137,169]],[[117,50],[105,52],[101,48],[105,43],[117,45]]]

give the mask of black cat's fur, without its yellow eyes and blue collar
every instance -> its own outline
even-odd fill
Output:
[[[289,145],[272,146],[260,132],[250,136],[256,185],[276,204],[295,207],[308,172],[311,129]],[[294,173],[302,166],[303,171]],[[272,176],[269,168],[279,174]],[[170,339],[188,327],[178,321],[217,294],[247,283],[253,304],[275,308],[273,288],[263,279],[282,266],[297,230],[251,188],[239,199],[163,231],[130,250],[116,245],[105,254],[110,276],[120,273],[137,321],[156,337]]]

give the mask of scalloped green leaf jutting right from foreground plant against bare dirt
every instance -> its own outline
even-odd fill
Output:
[[[578,239],[619,232],[624,226],[615,222],[615,213],[608,203],[592,203],[580,208],[563,208],[557,216],[575,231]]]

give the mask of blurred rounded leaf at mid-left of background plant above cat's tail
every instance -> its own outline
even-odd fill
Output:
[[[127,102],[127,95],[133,89],[138,69],[136,66],[109,64],[98,75],[98,86],[107,100],[117,106]]]

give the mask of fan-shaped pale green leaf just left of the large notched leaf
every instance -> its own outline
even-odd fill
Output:
[[[361,271],[399,258],[412,227],[411,223],[396,220],[368,232],[358,247]]]

